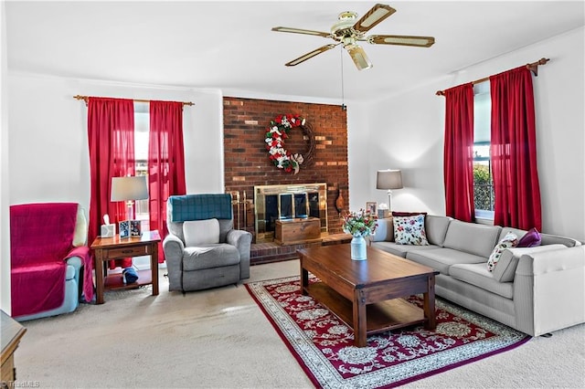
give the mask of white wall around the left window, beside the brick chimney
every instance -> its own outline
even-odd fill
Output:
[[[164,89],[9,76],[10,204],[90,203],[87,107],[74,95],[192,101],[183,113],[188,193],[223,191],[222,97],[218,89]]]

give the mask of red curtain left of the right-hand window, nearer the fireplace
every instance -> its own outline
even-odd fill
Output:
[[[473,221],[473,84],[445,90],[446,215]]]

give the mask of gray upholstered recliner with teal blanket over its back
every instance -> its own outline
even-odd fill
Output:
[[[252,235],[233,229],[231,195],[172,195],[163,241],[169,290],[199,290],[250,278]]]

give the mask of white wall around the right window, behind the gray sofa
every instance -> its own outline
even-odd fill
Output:
[[[538,68],[534,78],[542,229],[585,241],[584,34],[581,27],[372,104],[370,171],[403,170],[405,187],[393,191],[393,208],[444,215],[444,98],[435,96],[437,90],[545,57],[550,61]],[[375,189],[374,173],[371,180],[361,194],[352,195],[362,197],[367,192],[372,200],[387,202],[385,193]]]

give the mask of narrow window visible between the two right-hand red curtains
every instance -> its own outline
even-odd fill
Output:
[[[475,217],[494,220],[494,181],[490,156],[490,83],[473,86],[473,205]]]

